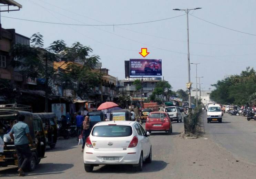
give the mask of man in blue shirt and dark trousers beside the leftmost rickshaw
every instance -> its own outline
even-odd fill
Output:
[[[17,151],[19,176],[25,176],[23,169],[26,167],[31,157],[28,140],[30,141],[30,144],[33,144],[33,140],[29,134],[29,127],[27,124],[23,123],[24,119],[25,116],[20,115],[18,119],[19,122],[13,125],[10,131],[10,137],[14,140],[14,145]],[[15,135],[13,136],[13,134]]]

